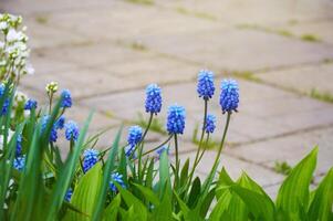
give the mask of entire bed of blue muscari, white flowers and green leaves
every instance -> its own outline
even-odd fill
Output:
[[[198,75],[204,114],[192,162],[179,160],[178,138],[186,126],[186,110],[180,105],[168,107],[166,140],[153,148],[145,144],[149,126],[163,108],[162,88],[156,84],[146,90],[146,128],[129,127],[125,146],[119,141],[119,128],[104,150],[93,148],[98,135],[86,136],[92,114],[82,128],[65,118],[73,101],[67,90],[58,94],[56,83],[46,86],[48,105],[38,107],[34,99],[24,98],[18,106],[17,87],[25,72],[20,73],[21,64],[21,71],[17,70],[17,60],[7,49],[27,42],[25,38],[8,41],[13,30],[21,35],[17,31],[20,22],[17,17],[0,15],[0,220],[333,220],[333,169],[310,191],[316,147],[291,169],[275,200],[246,172],[233,180],[219,167],[230,118],[237,113],[239,88],[236,81],[223,80],[221,115],[208,114],[216,90],[210,71]],[[200,179],[195,176],[196,167],[217,117],[225,117],[225,130],[210,173]],[[58,144],[60,130],[67,141],[66,154],[64,144]],[[174,152],[175,162],[169,152]]]

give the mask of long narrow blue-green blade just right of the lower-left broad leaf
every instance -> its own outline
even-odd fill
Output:
[[[107,161],[106,161],[106,165],[104,168],[104,172],[103,172],[103,185],[102,185],[102,189],[101,189],[101,194],[98,194],[98,198],[96,201],[96,208],[94,210],[92,220],[101,220],[101,217],[102,217],[102,211],[104,208],[107,189],[110,186],[111,171],[115,167],[114,162],[115,162],[115,158],[118,152],[121,131],[122,131],[122,128],[118,130],[117,136],[112,145],[111,151],[108,154],[108,158],[107,158]]]

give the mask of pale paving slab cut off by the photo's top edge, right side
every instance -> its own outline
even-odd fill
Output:
[[[308,21],[332,18],[333,4],[320,1],[267,1],[267,0],[156,0],[157,4],[202,19],[214,18],[226,23],[274,24],[290,20]],[[181,9],[181,10],[180,10]]]

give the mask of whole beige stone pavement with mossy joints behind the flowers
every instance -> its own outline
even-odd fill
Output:
[[[232,76],[240,84],[222,155],[233,178],[244,170],[274,197],[283,180],[274,164],[293,166],[315,145],[313,185],[332,167],[332,0],[2,0],[0,9],[22,14],[29,28],[37,74],[23,78],[22,90],[44,101],[50,81],[70,88],[69,117],[83,122],[94,108],[91,133],[111,127],[101,147],[144,113],[144,88],[154,82],[163,86],[160,124],[169,104],[186,107],[180,151],[192,159],[204,109],[196,76],[207,67],[218,81]],[[225,124],[218,95],[209,112],[219,116],[218,141]],[[152,145],[164,138],[148,136]],[[198,176],[215,155],[207,151]]]

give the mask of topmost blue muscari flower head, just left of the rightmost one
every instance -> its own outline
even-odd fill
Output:
[[[198,74],[198,86],[197,92],[199,97],[204,99],[209,99],[214,95],[214,73],[208,70],[201,70]]]

